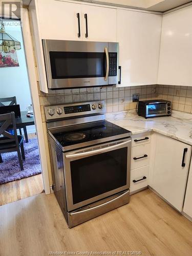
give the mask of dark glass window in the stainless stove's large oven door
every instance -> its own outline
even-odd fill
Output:
[[[73,204],[126,185],[127,147],[70,163]]]

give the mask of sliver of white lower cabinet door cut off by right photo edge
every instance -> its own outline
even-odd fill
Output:
[[[190,165],[190,170],[188,175],[183,211],[185,212],[185,214],[187,214],[192,218],[192,164]]]

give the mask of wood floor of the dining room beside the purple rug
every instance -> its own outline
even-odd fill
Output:
[[[28,134],[29,139],[35,137],[35,134]],[[42,182],[41,174],[4,183],[0,185],[0,205],[31,197],[40,194],[43,191],[44,184]]]

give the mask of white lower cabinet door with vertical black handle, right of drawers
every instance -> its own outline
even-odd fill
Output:
[[[156,150],[151,187],[179,211],[182,210],[191,146],[155,134]],[[187,152],[184,156],[184,149]],[[185,166],[182,167],[182,162]]]

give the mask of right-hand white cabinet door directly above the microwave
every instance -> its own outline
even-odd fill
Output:
[[[82,36],[87,41],[116,42],[117,10],[99,6],[81,5]],[[86,18],[87,14],[87,28]],[[86,37],[86,33],[88,33]]]

